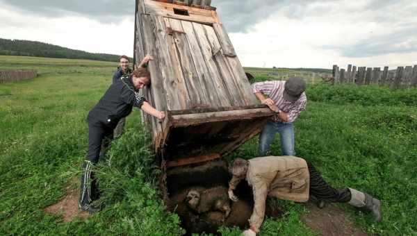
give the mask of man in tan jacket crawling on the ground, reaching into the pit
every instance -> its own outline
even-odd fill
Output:
[[[233,175],[229,183],[229,198],[237,201],[233,190],[246,179],[252,186],[254,210],[250,217],[250,229],[243,235],[256,235],[263,222],[267,196],[278,199],[305,202],[309,199],[331,203],[349,203],[373,213],[381,221],[381,201],[356,189],[336,190],[326,183],[320,173],[302,158],[294,156],[268,156],[244,160],[236,158],[229,167]]]

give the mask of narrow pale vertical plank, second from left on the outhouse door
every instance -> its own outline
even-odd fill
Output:
[[[184,33],[186,33],[190,51],[192,51],[191,56],[193,58],[197,77],[202,87],[199,92],[201,96],[206,99],[206,101],[209,101],[210,106],[219,107],[220,101],[217,93],[213,92],[215,91],[215,87],[211,77],[209,76],[207,65],[193,29],[193,24],[191,24],[191,22],[181,21],[181,25]]]

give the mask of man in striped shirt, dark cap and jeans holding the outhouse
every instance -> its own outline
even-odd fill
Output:
[[[282,155],[295,155],[293,122],[306,108],[304,79],[293,77],[288,81],[254,83],[252,90],[262,104],[278,108],[277,115],[267,121],[259,136],[259,155],[266,155],[277,133],[281,137]]]

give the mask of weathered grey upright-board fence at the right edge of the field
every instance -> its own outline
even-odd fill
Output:
[[[334,83],[356,83],[357,85],[386,85],[393,89],[417,87],[417,65],[398,67],[356,67],[347,65],[347,69],[333,66]]]

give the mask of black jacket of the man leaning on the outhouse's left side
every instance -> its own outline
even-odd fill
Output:
[[[133,86],[131,76],[123,76],[120,83],[113,83],[99,103],[90,110],[87,121],[114,128],[120,119],[132,112],[133,107],[141,108],[145,101]]]

